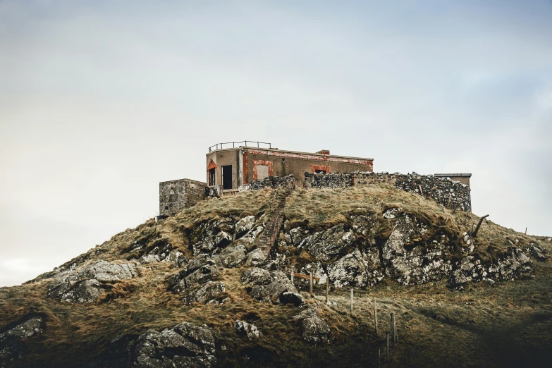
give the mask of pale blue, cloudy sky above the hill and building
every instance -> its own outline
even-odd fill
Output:
[[[0,286],[158,214],[208,147],[472,173],[552,235],[552,1],[0,0]]]

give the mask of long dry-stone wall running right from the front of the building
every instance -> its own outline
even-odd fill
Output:
[[[352,185],[369,185],[374,183],[387,183],[395,185],[405,192],[415,192],[424,197],[431,197],[437,203],[445,207],[456,208],[460,211],[472,211],[472,199],[470,188],[450,178],[437,178],[431,175],[418,175],[412,173],[403,175],[400,173],[305,173],[305,188],[346,188]]]

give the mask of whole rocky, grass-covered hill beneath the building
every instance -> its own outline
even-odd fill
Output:
[[[390,312],[393,366],[550,366],[550,238],[470,236],[478,216],[391,185],[286,195],[200,202],[0,288],[0,367],[370,367]]]

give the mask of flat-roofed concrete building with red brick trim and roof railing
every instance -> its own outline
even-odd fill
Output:
[[[308,153],[284,151],[263,142],[219,143],[207,153],[207,183],[237,190],[253,180],[290,174],[301,183],[305,173],[372,172],[373,163],[374,159],[336,156],[327,149]]]

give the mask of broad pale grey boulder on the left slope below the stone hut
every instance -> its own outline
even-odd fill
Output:
[[[104,295],[104,281],[125,280],[137,276],[133,263],[115,264],[99,261],[79,271],[57,275],[48,290],[48,297],[60,302],[90,303]]]

